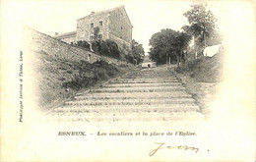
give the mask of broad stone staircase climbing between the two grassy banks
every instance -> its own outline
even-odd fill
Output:
[[[167,67],[131,72],[81,92],[53,109],[54,121],[123,122],[202,120],[204,116]]]

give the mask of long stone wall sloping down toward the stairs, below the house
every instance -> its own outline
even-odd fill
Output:
[[[122,62],[117,59],[96,55],[93,52],[87,51],[80,47],[72,46],[66,42],[55,39],[49,35],[28,27],[24,27],[23,33],[24,39],[26,40],[23,48],[30,48],[30,50],[45,52],[54,57],[65,58],[71,61],[84,60],[94,63],[97,60],[104,60],[109,64],[127,64],[126,62]]]

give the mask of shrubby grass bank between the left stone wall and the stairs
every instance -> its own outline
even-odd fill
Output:
[[[134,69],[131,65],[116,66],[101,60],[93,64],[52,57],[35,52],[37,103],[42,111],[62,105],[75,94],[98,83],[118,77]]]

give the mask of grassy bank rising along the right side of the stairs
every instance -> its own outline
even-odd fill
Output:
[[[201,108],[201,112],[208,117],[213,110],[210,109],[212,101],[223,80],[222,55],[212,58],[202,57],[190,61],[187,66],[172,67],[170,71],[181,81],[186,91],[192,94]]]

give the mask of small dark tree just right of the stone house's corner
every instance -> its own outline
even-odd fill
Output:
[[[142,44],[138,43],[136,40],[132,40],[132,55],[133,58],[136,60],[137,64],[143,62],[145,51]]]

